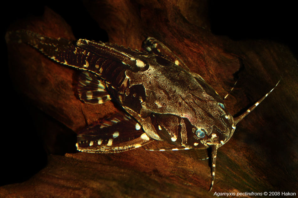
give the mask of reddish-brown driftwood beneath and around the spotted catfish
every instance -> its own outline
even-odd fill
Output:
[[[239,77],[225,101],[232,115],[245,111],[283,76],[274,92],[219,148],[212,192],[208,193],[209,163],[199,160],[207,156],[204,150],[150,152],[140,147],[115,154],[76,152],[74,132],[121,109],[113,102],[82,103],[75,88],[76,70],[56,64],[25,44],[9,43],[12,81],[29,106],[42,110],[33,108],[31,112],[49,155],[46,166],[28,180],[0,187],[0,197],[213,197],[214,192],[298,192],[295,57],[276,42],[215,36],[205,16],[194,17],[197,13],[191,8],[196,3],[177,2],[107,1],[86,2],[85,6],[106,30],[109,42],[140,49],[142,40],[153,36],[222,97],[235,83],[235,76]],[[88,27],[82,28],[88,31]],[[15,22],[10,30],[16,29],[76,40],[71,27],[49,8],[41,17]],[[62,144],[52,140],[59,134],[64,137]],[[154,141],[144,147],[171,145]],[[63,151],[67,153],[57,155]],[[12,158],[18,151],[10,152]]]

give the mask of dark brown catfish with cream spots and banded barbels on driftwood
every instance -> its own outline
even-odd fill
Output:
[[[171,150],[211,147],[210,190],[217,149],[231,138],[236,124],[273,90],[233,118],[216,91],[152,37],[143,42],[142,52],[86,39],[54,39],[25,30],[8,32],[6,41],[28,43],[53,61],[82,70],[78,93],[83,102],[101,104],[113,99],[125,110],[82,130],[77,135],[79,151],[127,151],[153,140],[180,146]]]

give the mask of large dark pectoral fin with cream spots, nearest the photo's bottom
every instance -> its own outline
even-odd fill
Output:
[[[135,149],[152,141],[132,117],[116,113],[82,130],[77,135],[77,150],[114,153]]]

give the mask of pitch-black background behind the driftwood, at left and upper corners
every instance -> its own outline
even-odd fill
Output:
[[[234,40],[265,39],[288,45],[297,58],[297,12],[294,3],[258,2],[258,1],[209,1],[208,17],[211,32],[226,35]],[[4,35],[15,20],[41,16],[48,6],[60,14],[72,27],[76,38],[108,41],[106,32],[90,17],[81,1],[44,1],[44,2],[8,2],[3,15],[2,46],[2,136],[1,179],[0,186],[22,182],[30,178],[46,165],[47,153],[42,140],[36,132],[35,121],[30,112],[32,106],[22,94],[14,89],[9,78],[6,44]],[[35,109],[35,111],[40,111]],[[40,113],[42,113],[40,111]],[[73,138],[73,134],[69,137]],[[75,152],[65,148],[56,155]],[[42,160],[41,160],[42,159]]]

